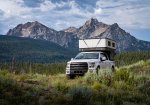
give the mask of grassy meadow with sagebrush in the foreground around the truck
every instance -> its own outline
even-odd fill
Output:
[[[64,65],[44,66],[58,67],[57,73],[1,66],[0,105],[150,105],[150,60],[75,79],[66,78]]]

